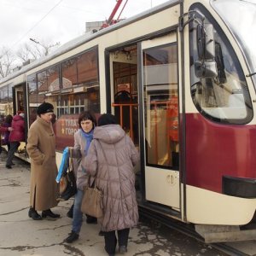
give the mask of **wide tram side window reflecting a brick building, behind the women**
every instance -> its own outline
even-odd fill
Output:
[[[53,127],[57,150],[73,146],[79,113],[88,109],[100,113],[97,59],[97,49],[90,49],[27,77],[29,125],[37,118],[38,105],[51,103],[56,117]]]

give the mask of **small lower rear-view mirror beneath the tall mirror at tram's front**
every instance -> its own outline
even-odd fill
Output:
[[[217,65],[215,61],[195,61],[195,76],[197,78],[216,78]]]

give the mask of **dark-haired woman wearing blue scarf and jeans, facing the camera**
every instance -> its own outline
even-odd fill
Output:
[[[95,114],[90,111],[84,111],[79,115],[79,130],[74,134],[73,163],[74,171],[77,177],[77,193],[75,195],[73,206],[67,212],[67,217],[73,218],[72,230],[64,240],[68,243],[79,239],[79,233],[83,224],[83,212],[81,212],[84,187],[88,182],[88,174],[80,165],[81,160],[85,158],[90,142],[93,138],[94,128],[96,126]],[[96,224],[97,219],[86,215],[87,224]]]

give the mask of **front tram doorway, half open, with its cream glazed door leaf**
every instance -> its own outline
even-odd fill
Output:
[[[139,203],[179,212],[176,34],[138,45],[109,52],[111,111],[142,156]]]

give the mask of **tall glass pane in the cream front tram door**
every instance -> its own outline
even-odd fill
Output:
[[[143,51],[147,165],[178,169],[177,44]]]

